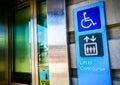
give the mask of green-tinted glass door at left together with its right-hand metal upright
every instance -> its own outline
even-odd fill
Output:
[[[36,0],[15,0],[12,29],[12,85],[38,85]]]

